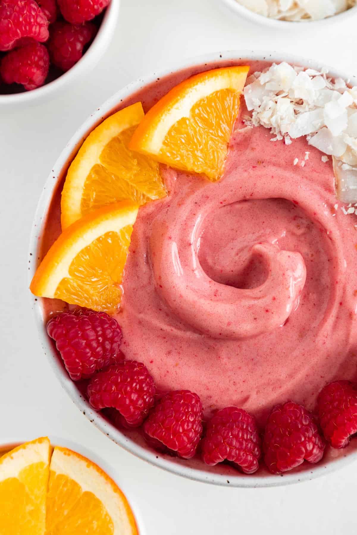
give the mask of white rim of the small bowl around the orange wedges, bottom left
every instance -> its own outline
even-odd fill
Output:
[[[35,437],[10,437],[5,438],[1,440],[0,444],[0,452],[4,452],[6,450],[10,450],[12,448],[15,448],[16,446],[19,446],[20,444],[24,444],[24,442],[28,442],[29,440],[34,440]],[[63,448],[69,448],[72,449],[73,452],[77,452],[80,455],[83,455],[83,457],[87,457],[90,461],[93,461],[95,464],[98,465],[102,470],[104,470],[105,473],[108,474],[109,477],[112,478],[112,480],[118,485],[121,491],[123,491],[127,501],[129,502],[129,505],[134,513],[136,526],[138,527],[139,535],[146,535],[145,526],[143,523],[143,520],[141,518],[141,515],[138,511],[138,507],[135,503],[135,498],[126,491],[125,484],[123,485],[123,481],[121,480],[118,470],[116,467],[111,466],[107,462],[103,460],[102,457],[95,454],[91,449],[88,449],[87,447],[78,444],[78,442],[72,442],[72,440],[67,440],[64,438],[55,437],[53,435],[49,435],[48,437],[50,439],[50,442],[52,446],[62,446]]]

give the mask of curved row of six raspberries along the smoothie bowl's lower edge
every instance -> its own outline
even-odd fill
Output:
[[[104,312],[63,312],[49,320],[47,332],[70,377],[90,379],[91,406],[105,409],[118,427],[142,425],[148,444],[162,453],[191,458],[200,450],[206,464],[226,461],[247,474],[259,468],[263,456],[272,473],[282,473],[303,461],[320,461],[326,441],[343,448],[357,432],[357,385],[350,381],[322,389],[318,419],[292,401],[274,407],[261,438],[255,418],[243,409],[226,407],[204,423],[197,394],[159,395],[146,366],[125,360],[120,326]]]

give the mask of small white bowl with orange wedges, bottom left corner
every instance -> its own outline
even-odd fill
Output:
[[[0,446],[2,532],[74,535],[89,533],[95,525],[96,533],[143,534],[142,522],[112,472],[101,458],[71,441],[5,441]]]

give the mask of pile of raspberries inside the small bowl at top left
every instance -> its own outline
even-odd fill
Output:
[[[110,0],[3,0],[0,2],[0,78],[26,90],[45,82],[50,64],[68,71],[96,34],[89,20]],[[45,43],[42,44],[42,43]]]

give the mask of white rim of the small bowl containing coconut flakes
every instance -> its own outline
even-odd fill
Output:
[[[324,29],[333,24],[338,24],[341,22],[346,22],[350,20],[351,17],[357,17],[357,6],[351,7],[351,9],[339,13],[333,17],[328,17],[321,20],[312,20],[306,22],[292,22],[288,20],[276,20],[264,17],[250,11],[247,7],[244,7],[241,4],[238,4],[237,0],[217,0],[219,4],[223,5],[231,12],[236,13],[237,16],[243,17],[257,24],[268,26],[270,28],[280,29],[280,30],[298,30],[301,32],[308,32],[309,30]]]

